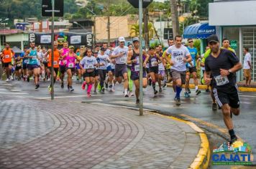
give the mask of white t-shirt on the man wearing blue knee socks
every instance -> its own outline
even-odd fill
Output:
[[[171,60],[174,63],[170,69],[175,69],[179,72],[186,71],[186,63],[183,62],[183,59],[186,59],[190,55],[187,47],[181,45],[180,48],[177,48],[173,45],[168,47],[166,54],[171,54]]]

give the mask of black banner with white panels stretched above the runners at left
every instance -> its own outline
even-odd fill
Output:
[[[35,42],[40,45],[51,45],[52,35],[50,33],[29,33],[29,42]],[[72,32],[58,32],[54,34],[54,40],[58,41],[59,45],[68,41],[69,45],[85,45],[93,47],[93,34],[78,34]]]

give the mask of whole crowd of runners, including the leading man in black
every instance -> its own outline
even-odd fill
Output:
[[[198,54],[196,47],[193,47],[193,39],[188,39],[187,46],[183,45],[182,41],[181,36],[176,36],[175,39],[168,40],[169,47],[165,51],[162,45],[143,50],[143,67],[140,67],[140,39],[137,37],[134,37],[132,44],[128,46],[125,46],[124,37],[119,37],[119,45],[114,49],[103,43],[101,47],[97,46],[95,49],[80,47],[75,50],[68,42],[64,42],[63,48],[60,49],[58,42],[54,42],[53,65],[51,49],[36,47],[35,42],[31,42],[29,49],[25,49],[22,54],[15,54],[6,43],[1,52],[1,62],[7,82],[14,79],[29,82],[33,79],[35,89],[38,89],[40,80],[50,81],[50,70],[53,67],[54,83],[60,81],[61,88],[66,86],[68,91],[73,92],[75,74],[77,82],[81,83],[81,88],[86,90],[88,97],[91,97],[91,93],[105,92],[106,88],[114,92],[118,82],[123,84],[124,97],[133,97],[135,94],[136,104],[140,102],[139,80],[140,69],[143,69],[143,87],[152,86],[153,95],[162,92],[166,83],[173,82],[177,106],[180,105],[183,84],[184,97],[190,97],[190,78],[193,78],[195,84],[195,95],[201,93],[198,89],[197,69],[201,66],[204,78],[199,81],[207,84],[206,92],[211,92],[212,109],[217,110],[218,105],[219,109],[222,109],[224,122],[229,129],[231,141],[234,142],[237,137],[234,135],[231,118],[232,114],[239,115],[235,72],[242,68],[242,64],[234,50],[229,47],[228,39],[224,39],[223,47],[219,47],[218,37],[212,35],[208,39],[209,46],[206,47],[206,52],[201,55]],[[51,85],[48,86],[48,90],[51,92]]]

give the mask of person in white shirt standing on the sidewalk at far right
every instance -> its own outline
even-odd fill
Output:
[[[251,54],[249,53],[249,48],[244,47],[244,77],[245,77],[245,84],[244,87],[250,87],[252,77],[251,77],[251,70],[252,70],[252,64],[251,64]]]

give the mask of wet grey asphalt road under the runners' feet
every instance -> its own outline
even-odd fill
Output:
[[[68,92],[66,86],[60,88],[60,83],[55,84],[55,99],[67,100],[67,102],[86,102],[97,105],[121,105],[125,107],[137,107],[135,105],[135,97],[125,98],[122,95],[122,84],[116,85],[116,92],[99,93],[91,98],[86,97],[86,92],[81,90],[81,84],[76,84],[76,79],[73,79],[73,93]],[[19,98],[31,99],[50,99],[50,94],[47,90],[47,85],[50,82],[41,82],[40,88],[35,90],[32,82],[3,82],[0,81],[0,95],[13,95]],[[157,87],[158,89],[158,87]],[[155,110],[165,115],[180,117],[185,120],[195,122],[199,127],[202,127],[206,132],[212,132],[224,139],[228,139],[226,127],[223,122],[221,111],[216,112],[211,110],[211,97],[209,93],[202,91],[200,95],[195,94],[195,90],[191,90],[191,97],[186,99],[181,97],[181,105],[175,106],[173,100],[174,92],[172,88],[163,88],[163,92],[153,95],[152,87],[148,86],[144,95],[144,107],[146,109]],[[182,92],[183,96],[183,92]],[[256,93],[240,92],[241,114],[238,117],[233,116],[234,130],[236,134],[245,142],[252,146],[252,151],[256,157]],[[139,113],[139,112],[138,112]],[[216,147],[214,141],[209,138],[211,147]],[[217,143],[216,143],[217,144]]]

